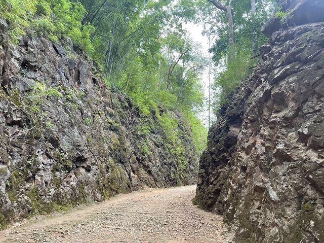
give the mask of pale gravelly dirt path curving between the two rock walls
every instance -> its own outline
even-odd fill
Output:
[[[195,186],[121,194],[0,232],[0,242],[229,242],[221,217],[192,205]]]

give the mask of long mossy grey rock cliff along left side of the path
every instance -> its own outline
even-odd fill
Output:
[[[25,38],[10,48],[7,31],[0,19],[1,227],[144,186],[195,182],[198,158],[181,114],[171,112],[184,153],[154,111],[144,116],[108,89],[70,41]]]

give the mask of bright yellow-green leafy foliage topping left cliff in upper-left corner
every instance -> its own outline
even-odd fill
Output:
[[[90,36],[95,29],[90,24],[82,25],[86,10],[79,2],[3,0],[0,12],[10,24],[10,39],[13,44],[17,44],[18,39],[29,32],[48,37],[54,42],[68,37],[89,55],[94,52]]]

